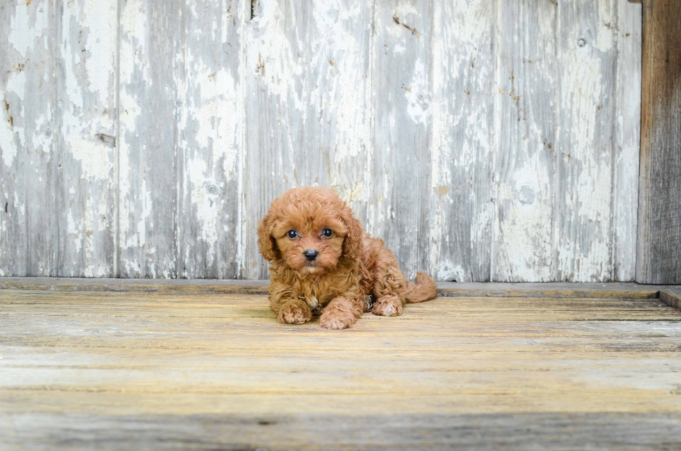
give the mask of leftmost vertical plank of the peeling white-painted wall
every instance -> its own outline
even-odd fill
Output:
[[[0,7],[0,276],[54,275],[53,6]]]

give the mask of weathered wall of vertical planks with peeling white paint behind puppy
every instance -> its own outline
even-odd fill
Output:
[[[263,278],[332,186],[413,276],[628,281],[641,6],[0,4],[0,275]]]

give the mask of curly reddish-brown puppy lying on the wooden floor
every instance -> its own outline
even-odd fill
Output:
[[[270,307],[283,323],[321,313],[322,327],[345,329],[365,311],[397,316],[405,303],[437,294],[424,272],[410,284],[383,240],[371,238],[327,188],[293,188],[274,199],[259,224],[258,245],[272,263]]]

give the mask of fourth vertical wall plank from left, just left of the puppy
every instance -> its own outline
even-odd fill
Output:
[[[181,2],[178,277],[239,276],[242,10],[236,0]]]

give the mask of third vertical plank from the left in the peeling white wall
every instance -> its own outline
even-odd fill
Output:
[[[120,0],[120,277],[177,277],[180,0]]]

